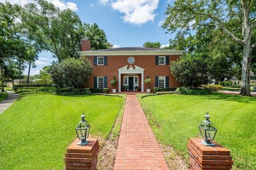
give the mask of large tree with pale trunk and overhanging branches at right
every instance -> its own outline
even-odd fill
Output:
[[[189,31],[195,27],[216,25],[233,41],[242,45],[242,85],[240,94],[250,94],[250,62],[256,47],[252,34],[256,26],[256,2],[253,0],[176,0],[168,5],[163,28],[169,32]],[[233,25],[228,21],[232,20]]]

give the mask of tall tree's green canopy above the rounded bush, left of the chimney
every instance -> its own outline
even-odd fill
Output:
[[[34,33],[35,41],[45,51],[50,51],[59,62],[77,50],[82,35],[82,22],[70,9],[60,10],[46,0],[36,0],[24,6],[22,22]],[[76,56],[71,56],[76,57]]]

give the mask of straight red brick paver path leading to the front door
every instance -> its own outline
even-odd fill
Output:
[[[114,170],[169,170],[135,95],[127,95]]]

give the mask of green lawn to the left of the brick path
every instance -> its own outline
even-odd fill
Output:
[[[113,96],[23,93],[0,115],[0,169],[63,170],[66,147],[76,138],[82,112],[90,137],[106,138],[122,107]]]

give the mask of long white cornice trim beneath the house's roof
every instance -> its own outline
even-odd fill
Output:
[[[77,51],[81,56],[96,55],[96,56],[109,56],[109,55],[183,55],[187,51],[182,50],[168,50],[168,51]]]

